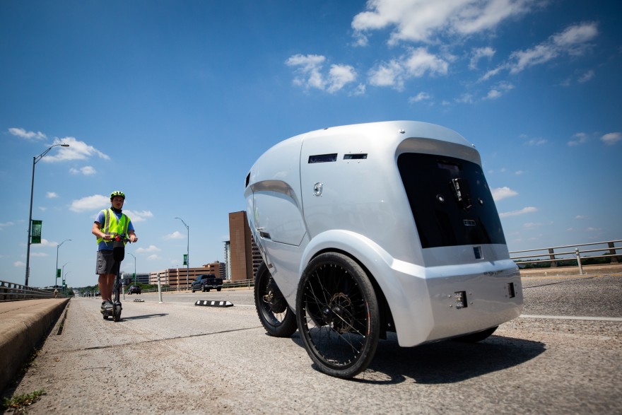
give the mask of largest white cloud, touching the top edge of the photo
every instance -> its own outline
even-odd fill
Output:
[[[465,37],[491,30],[529,11],[533,0],[370,0],[351,26],[357,44],[368,44],[372,30],[392,28],[389,45],[433,42],[442,35]]]

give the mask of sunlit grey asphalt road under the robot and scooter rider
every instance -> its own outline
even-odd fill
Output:
[[[250,290],[126,296],[117,323],[76,298],[16,394],[46,391],[29,414],[621,414],[622,276],[523,285],[524,315],[485,341],[392,337],[353,380],[267,336]]]

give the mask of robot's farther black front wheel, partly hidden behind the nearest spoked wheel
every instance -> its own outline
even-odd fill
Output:
[[[291,337],[296,332],[294,312],[264,263],[259,265],[255,275],[254,298],[259,321],[270,336]]]

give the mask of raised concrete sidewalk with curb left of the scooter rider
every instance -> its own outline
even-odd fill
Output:
[[[0,392],[57,322],[69,298],[0,302]]]

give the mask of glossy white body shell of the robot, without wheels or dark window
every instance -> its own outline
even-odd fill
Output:
[[[401,346],[478,332],[518,317],[520,275],[505,239],[476,247],[423,247],[428,242],[420,240],[397,166],[402,153],[447,156],[481,167],[479,153],[462,136],[412,121],[312,131],[282,141],[253,165],[245,189],[247,216],[288,305],[295,310],[308,262],[333,250],[363,264],[380,286]],[[466,308],[454,307],[457,291],[467,293]]]

